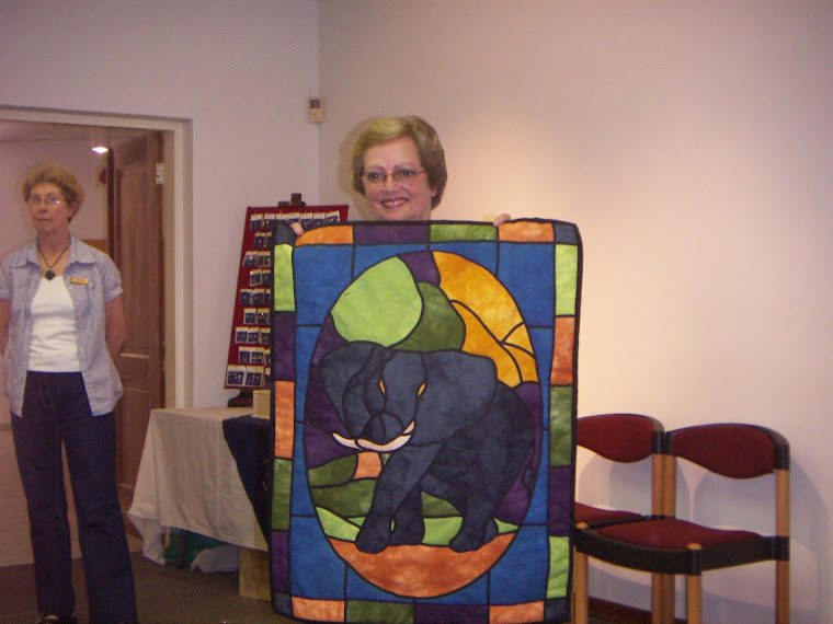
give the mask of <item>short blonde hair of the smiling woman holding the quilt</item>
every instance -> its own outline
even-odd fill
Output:
[[[365,194],[362,175],[364,174],[364,154],[374,146],[389,143],[401,137],[410,137],[420,152],[420,163],[425,167],[429,185],[436,189],[431,198],[431,208],[436,208],[443,198],[448,171],[445,167],[445,151],[436,130],[422,117],[415,115],[401,117],[377,117],[358,136],[353,143],[353,188]]]

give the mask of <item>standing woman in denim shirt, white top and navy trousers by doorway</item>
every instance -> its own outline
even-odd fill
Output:
[[[116,490],[113,363],[125,339],[118,269],[70,234],[83,188],[64,166],[28,172],[23,199],[35,240],[0,264],[0,351],[26,494],[44,624],[75,623],[67,454],[90,620],[136,620],[133,569]]]

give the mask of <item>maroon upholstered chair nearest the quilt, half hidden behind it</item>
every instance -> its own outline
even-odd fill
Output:
[[[575,437],[579,447],[612,462],[635,463],[652,459],[650,513],[632,509],[605,509],[577,500],[577,532],[661,517],[663,512],[662,449],[665,429],[658,419],[641,414],[584,416],[577,420]],[[673,577],[670,579],[673,581]],[[577,624],[587,622],[587,556],[577,548],[574,557],[574,622]],[[673,591],[673,588],[663,590],[663,587],[670,587],[667,581],[665,586],[661,583],[661,577],[653,577],[651,601],[658,613],[662,612],[662,592]]]

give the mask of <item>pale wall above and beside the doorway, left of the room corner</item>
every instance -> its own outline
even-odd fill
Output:
[[[225,404],[246,207],[318,199],[318,3],[2,0],[0,76],[3,105],[193,122],[193,395]]]

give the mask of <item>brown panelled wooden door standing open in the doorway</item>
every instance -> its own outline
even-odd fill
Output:
[[[127,340],[116,368],[124,395],[116,408],[117,478],[126,510],[133,500],[150,411],[164,404],[161,135],[140,132],[114,146],[110,180],[111,255],[122,271]]]

